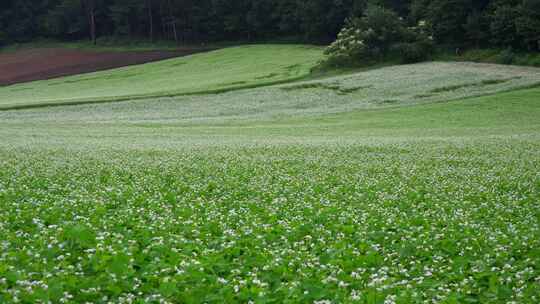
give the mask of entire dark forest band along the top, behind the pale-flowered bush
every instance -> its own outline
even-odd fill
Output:
[[[2,0],[0,41],[99,36],[329,42],[380,5],[439,45],[540,49],[540,0]]]

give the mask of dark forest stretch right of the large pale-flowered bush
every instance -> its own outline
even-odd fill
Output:
[[[438,44],[540,49],[540,0],[414,0],[409,21],[425,20]]]

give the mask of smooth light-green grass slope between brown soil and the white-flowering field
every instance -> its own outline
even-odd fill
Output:
[[[322,56],[303,45],[251,45],[0,88],[0,108],[254,87],[301,78]]]

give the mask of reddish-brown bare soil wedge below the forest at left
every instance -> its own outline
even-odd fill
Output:
[[[36,48],[0,53],[0,86],[119,68],[203,51],[208,50],[96,52]]]

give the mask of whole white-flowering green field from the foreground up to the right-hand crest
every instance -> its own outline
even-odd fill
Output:
[[[538,303],[538,71],[0,111],[0,303]]]

